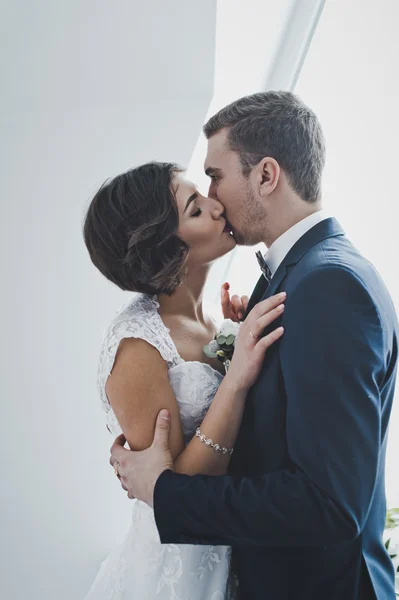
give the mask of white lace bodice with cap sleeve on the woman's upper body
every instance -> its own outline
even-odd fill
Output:
[[[155,296],[140,294],[124,306],[108,328],[100,353],[98,388],[102,407],[107,413],[107,424],[114,435],[120,426],[105,393],[105,385],[112,371],[120,342],[134,337],[154,346],[168,365],[169,381],[180,409],[185,443],[202,423],[223,376],[206,363],[185,362],[178,354],[164,325]]]

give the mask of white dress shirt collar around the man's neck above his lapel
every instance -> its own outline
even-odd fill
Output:
[[[272,277],[297,241],[305,235],[309,229],[312,229],[312,227],[330,217],[331,215],[328,214],[325,209],[319,210],[290,227],[290,229],[285,231],[273,242],[265,254],[265,261],[272,273]]]

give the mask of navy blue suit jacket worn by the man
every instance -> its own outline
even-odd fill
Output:
[[[261,278],[249,308],[285,290],[285,333],[249,393],[229,473],[164,472],[161,541],[231,545],[242,600],[393,600],[381,537],[397,368],[389,294],[335,219],[308,231],[265,288]]]

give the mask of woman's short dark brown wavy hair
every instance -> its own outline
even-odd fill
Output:
[[[172,181],[182,169],[151,162],[98,190],[87,210],[84,241],[93,264],[122,290],[172,294],[183,278],[188,246],[177,237]]]

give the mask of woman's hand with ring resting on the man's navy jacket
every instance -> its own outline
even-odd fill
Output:
[[[234,354],[226,378],[237,390],[247,391],[255,383],[265,358],[265,353],[284,333],[278,327],[268,335],[262,336],[268,325],[281,317],[286,293],[277,294],[263,300],[251,310],[240,325],[235,343]]]

